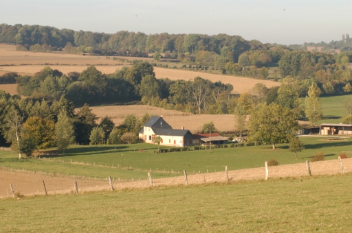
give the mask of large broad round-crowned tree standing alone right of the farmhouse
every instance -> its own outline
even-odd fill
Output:
[[[276,143],[283,143],[292,138],[298,128],[298,122],[292,111],[277,103],[269,106],[262,104],[252,112],[248,122],[250,140],[271,143],[273,149],[276,149]]]

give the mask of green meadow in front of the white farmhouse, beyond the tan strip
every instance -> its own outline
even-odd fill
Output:
[[[178,171],[182,170],[186,170],[188,173],[193,173],[193,171],[206,173],[207,171],[223,171],[225,166],[228,166],[230,170],[263,167],[265,161],[270,158],[278,160],[279,164],[294,164],[311,160],[311,157],[314,157],[318,151],[325,154],[326,160],[336,159],[343,152],[349,157],[352,156],[352,140],[350,138],[341,141],[325,141],[325,139],[324,137],[301,137],[300,140],[305,143],[306,149],[298,153],[298,160],[295,159],[293,153],[289,152],[287,144],[277,145],[276,150],[272,150],[271,145],[263,145],[212,149],[211,153],[208,150],[201,150],[154,154],[157,145],[141,143],[116,145],[116,147],[111,145],[74,146],[66,150],[65,156],[55,157],[56,162],[52,161],[53,158],[50,161],[48,158],[45,160],[18,160],[17,154],[0,151],[0,167],[85,175],[86,177],[111,175],[127,179],[138,179],[139,177],[144,179],[146,172],[150,169],[154,173],[153,176],[157,178],[179,175]],[[139,151],[142,148],[145,149],[145,152]],[[71,160],[85,164],[71,164]],[[96,165],[94,166],[94,164]],[[99,166],[99,164],[103,166]],[[124,169],[117,169],[116,167],[119,165]],[[132,169],[130,169],[131,167]]]

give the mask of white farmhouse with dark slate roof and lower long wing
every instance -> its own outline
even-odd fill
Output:
[[[173,129],[162,116],[152,116],[139,133],[144,143],[155,143],[155,138],[160,136],[160,145],[171,147],[188,147],[192,145],[192,134],[189,130]]]

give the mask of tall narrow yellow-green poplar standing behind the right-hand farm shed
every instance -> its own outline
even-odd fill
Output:
[[[320,104],[321,91],[318,85],[314,82],[308,91],[308,96],[305,97],[305,115],[309,119],[311,125],[315,125],[317,121],[322,119],[322,109]]]

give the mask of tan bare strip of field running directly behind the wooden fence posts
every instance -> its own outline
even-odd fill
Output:
[[[352,158],[344,159],[344,172],[352,172]],[[311,162],[312,175],[334,175],[341,173],[340,162],[338,160],[327,160]],[[152,174],[153,176],[153,174]],[[278,177],[300,177],[307,176],[307,167],[305,163],[287,164],[275,167],[269,167],[269,178]],[[240,180],[263,180],[265,178],[265,168],[259,167],[254,169],[241,169],[228,171],[230,182]],[[73,179],[63,177],[50,177],[32,173],[19,173],[13,171],[0,171],[0,198],[10,197],[10,184],[14,187],[15,192],[22,195],[43,195],[43,183],[49,194],[72,193],[74,182]],[[188,184],[204,184],[213,182],[226,182],[225,172],[201,173],[196,175],[188,174]],[[94,180],[77,180],[78,192],[108,190],[109,182]],[[155,186],[177,186],[184,185],[184,176],[169,177],[164,179],[153,180]],[[148,180],[136,182],[113,182],[115,189],[122,188],[148,188]]]

